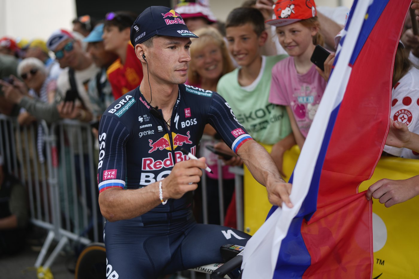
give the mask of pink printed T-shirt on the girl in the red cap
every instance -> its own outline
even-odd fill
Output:
[[[272,68],[269,102],[290,106],[301,134],[307,137],[325,88],[326,81],[314,64],[307,73],[300,75],[292,57],[287,57]]]

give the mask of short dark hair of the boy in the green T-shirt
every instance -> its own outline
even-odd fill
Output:
[[[265,19],[262,13],[255,8],[235,8],[227,17],[225,28],[242,26],[246,23],[253,25],[253,31],[260,36],[265,30]]]

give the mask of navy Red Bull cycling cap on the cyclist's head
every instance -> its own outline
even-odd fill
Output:
[[[131,44],[135,46],[154,35],[198,38],[189,31],[179,13],[163,6],[148,7],[137,17],[131,27]]]

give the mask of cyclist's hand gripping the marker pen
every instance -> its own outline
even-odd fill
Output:
[[[171,173],[162,181],[163,200],[180,199],[186,192],[197,189],[202,168],[206,168],[205,158],[176,163]]]

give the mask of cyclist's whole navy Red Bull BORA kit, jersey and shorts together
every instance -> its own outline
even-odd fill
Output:
[[[161,113],[161,111],[160,111]],[[179,85],[170,127],[150,113],[140,90],[116,100],[99,125],[99,191],[138,189],[169,175],[173,165],[195,154],[205,124],[237,152],[251,140],[217,93]],[[164,189],[163,189],[164,191]],[[152,279],[162,274],[222,261],[220,246],[246,245],[250,235],[194,221],[192,192],[169,199],[141,216],[106,222],[106,277]]]

